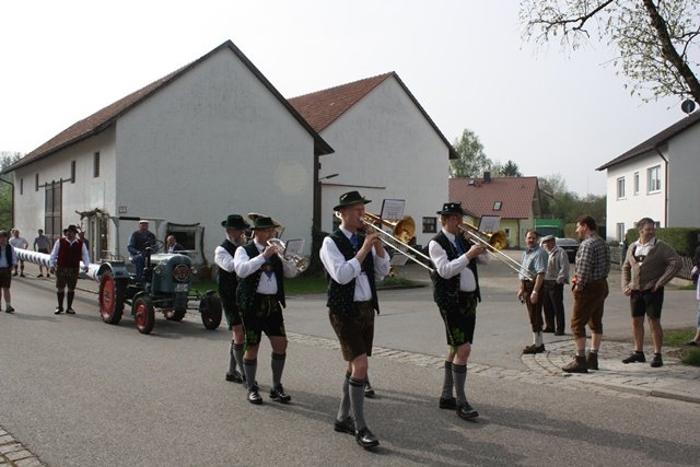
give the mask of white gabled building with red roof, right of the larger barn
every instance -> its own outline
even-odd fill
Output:
[[[448,201],[451,159],[458,154],[395,72],[368,78],[290,103],[332,145],[320,157],[320,229],[334,230],[332,207],[357,189],[381,214],[382,201],[404,200],[416,221],[416,243],[439,231],[435,212]]]

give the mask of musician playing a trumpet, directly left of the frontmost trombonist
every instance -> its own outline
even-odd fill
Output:
[[[255,374],[257,371],[258,348],[265,332],[272,347],[272,387],[270,398],[282,404],[292,397],[282,386],[282,372],[287,358],[287,334],[282,308],[284,300],[284,278],[299,273],[296,264],[280,257],[280,248],[268,244],[275,237],[280,224],[268,217],[258,217],[250,229],[253,241],[236,248],[233,258],[238,277],[237,300],[242,311],[245,330],[245,353],[243,371],[245,373],[248,401],[262,404]]]

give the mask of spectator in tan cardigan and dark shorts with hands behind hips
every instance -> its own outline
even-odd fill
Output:
[[[661,310],[664,304],[664,285],[680,269],[680,257],[666,243],[656,238],[656,226],[651,218],[637,223],[639,240],[630,245],[622,262],[622,293],[630,297],[634,352],[622,363],[643,363],[644,315],[649,320],[654,346],[651,366],[663,366],[661,355],[664,331],[661,327]]]

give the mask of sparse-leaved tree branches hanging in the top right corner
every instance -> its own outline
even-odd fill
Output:
[[[643,101],[690,95],[700,103],[691,59],[700,36],[698,0],[521,0],[520,17],[524,38],[538,44],[558,37],[575,50],[594,32],[617,49],[612,65]]]

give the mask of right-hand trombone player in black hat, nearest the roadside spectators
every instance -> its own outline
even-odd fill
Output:
[[[431,273],[433,297],[445,323],[450,346],[439,407],[455,410],[457,416],[468,420],[479,417],[467,401],[465,389],[477,303],[481,301],[477,262],[488,264],[491,257],[485,244],[463,236],[460,224],[465,213],[459,202],[444,203],[438,214],[442,230],[428,244],[428,252],[435,265],[435,271]]]

